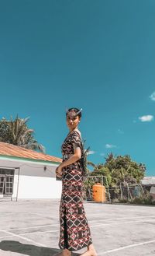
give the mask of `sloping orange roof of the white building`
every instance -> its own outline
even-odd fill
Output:
[[[31,149],[24,149],[20,146],[15,146],[9,143],[0,142],[0,155],[2,156],[16,156],[31,160],[44,160],[51,162],[62,162],[59,157],[50,156],[43,153],[38,153]]]

